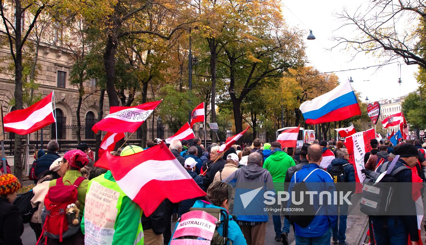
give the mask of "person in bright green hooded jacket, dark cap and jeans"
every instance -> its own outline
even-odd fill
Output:
[[[284,191],[284,179],[287,169],[296,166],[293,157],[287,155],[281,149],[281,143],[278,141],[271,143],[271,155],[266,158],[263,168],[268,169],[271,173],[275,191]],[[290,222],[284,218],[284,227],[281,230],[281,217],[279,215],[272,216],[273,226],[275,229],[275,240],[284,244],[287,242],[287,234],[290,232]]]

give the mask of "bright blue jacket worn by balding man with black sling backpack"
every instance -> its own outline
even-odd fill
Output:
[[[319,169],[320,166],[318,166],[315,163],[309,163],[306,166],[303,166],[302,169],[296,172],[296,174],[293,175],[291,178],[291,183],[293,182],[302,182],[303,179],[305,179],[309,173],[311,173],[314,169]],[[312,174],[306,179],[306,183],[314,182],[318,184],[308,184],[307,188],[309,191],[328,191],[331,193],[334,193],[336,190],[334,187],[334,181],[331,178],[330,174],[328,172],[325,172],[322,169],[316,170],[312,172]],[[293,184],[290,184],[288,192],[290,193],[290,199],[291,200],[291,190],[294,188]],[[331,198],[333,200],[333,197]],[[318,215],[314,217],[311,223],[309,223],[306,227],[301,227],[297,224],[294,224],[295,233],[297,236],[302,237],[319,237],[324,235],[325,232],[330,227],[333,227],[337,216],[335,215],[322,215],[325,214],[325,211],[327,210],[328,213],[336,213],[337,207],[336,205],[323,205],[320,208],[319,204],[319,198],[314,198],[313,200],[313,206],[314,209],[318,211]],[[287,203],[287,207],[290,207],[291,202]]]

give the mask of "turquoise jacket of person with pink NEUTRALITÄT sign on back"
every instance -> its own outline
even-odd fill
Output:
[[[220,208],[223,210],[226,210],[223,207],[218,207],[215,206],[213,204],[211,204],[210,202],[207,201],[201,201],[201,200],[197,200],[193,207],[198,207],[198,208]],[[224,216],[220,216],[220,220],[224,221],[225,217]],[[217,232],[222,235],[223,234],[223,225],[225,222],[220,222],[219,223],[219,227],[217,228]],[[176,227],[178,227],[179,222],[176,222]],[[175,230],[173,231],[173,234],[176,231],[176,227]],[[171,237],[173,237],[173,234]],[[240,227],[237,225],[237,223],[233,220],[232,216],[229,216],[228,219],[228,238],[230,239],[230,242],[232,242],[233,245],[246,245],[247,242],[245,241],[244,235],[242,234],[242,231],[240,229]],[[169,242],[170,244],[170,242]],[[229,242],[227,243],[229,244]]]

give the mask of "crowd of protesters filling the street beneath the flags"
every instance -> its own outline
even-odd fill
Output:
[[[160,142],[160,139],[147,140],[147,147],[144,149],[130,145],[113,153],[120,156],[131,155],[150,149]],[[48,143],[46,151],[40,149],[35,153],[33,170],[36,185],[32,189],[30,200],[33,212],[29,225],[34,230],[39,244],[84,244],[85,241],[86,244],[92,244],[90,241],[92,236],[95,236],[95,231],[87,228],[90,222],[84,216],[84,211],[98,208],[91,201],[92,191],[94,191],[93,188],[102,186],[118,193],[115,199],[116,215],[111,217],[113,221],[108,226],[114,232],[110,234],[107,244],[162,245],[169,244],[173,237],[172,220],[178,221],[184,213],[189,212],[191,207],[229,210],[231,200],[228,200],[230,188],[227,183],[270,182],[276,184],[303,181],[331,183],[326,185],[327,188],[334,188],[332,183],[336,183],[333,179],[336,169],[342,171],[341,182],[356,181],[354,165],[349,163],[348,150],[345,149],[342,141],[316,140],[294,149],[282,148],[278,141],[262,143],[261,140],[255,139],[251,146],[247,143],[242,146],[233,145],[223,153],[220,152],[220,145],[224,143],[212,143],[204,148],[201,139],[195,137],[190,141],[173,140],[167,144],[170,152],[184,168],[183,171],[186,171],[196,184],[207,192],[207,198],[192,198],[180,203],[173,203],[166,199],[153,214],[147,217],[141,208],[121,191],[111,171],[93,166],[94,154],[86,143],[79,144],[76,149],[67,149],[65,155],[61,157],[58,155],[58,142],[52,140]],[[389,141],[379,142],[374,139],[370,141],[370,145],[371,151],[366,152],[364,157],[365,169],[380,170],[379,163],[392,161],[396,155],[399,155],[395,168],[398,166],[409,168],[398,174],[397,182],[412,182],[412,171],[416,171],[417,175],[425,180],[426,155],[419,140],[406,140],[393,146]],[[7,166],[7,173],[0,176],[0,245],[22,244],[20,239],[23,233],[22,213],[14,205],[14,199],[21,184],[10,173],[9,165]],[[71,236],[52,238],[46,234],[43,235],[49,228],[43,226],[47,223],[46,214],[43,212],[46,207],[46,195],[52,187],[58,185],[77,186],[75,189],[76,202],[78,201],[76,217],[80,225]],[[280,188],[282,187],[276,187],[274,191],[278,192]],[[105,199],[108,201],[108,198]],[[313,206],[315,210],[321,208],[318,200],[314,200]],[[275,240],[288,244],[288,234],[293,227],[296,244],[325,245],[332,242],[348,245],[345,236],[347,215],[348,205],[339,205],[338,216],[317,215],[306,226],[298,225],[288,217],[284,217],[284,222],[281,224],[282,216],[273,215]],[[407,242],[417,244],[419,241],[417,223],[412,217],[376,216],[371,217],[371,220],[374,237],[379,245],[407,244]],[[229,239],[227,244],[265,244],[267,222],[268,214],[229,216],[226,225]],[[216,230],[221,233],[223,229],[225,226],[221,222]],[[402,242],[398,243],[398,241]]]

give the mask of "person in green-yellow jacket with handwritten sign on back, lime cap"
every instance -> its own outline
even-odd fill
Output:
[[[139,146],[126,146],[121,156],[141,151]],[[108,170],[89,182],[81,219],[84,242],[86,245],[143,245],[141,216],[139,205],[121,190]]]

